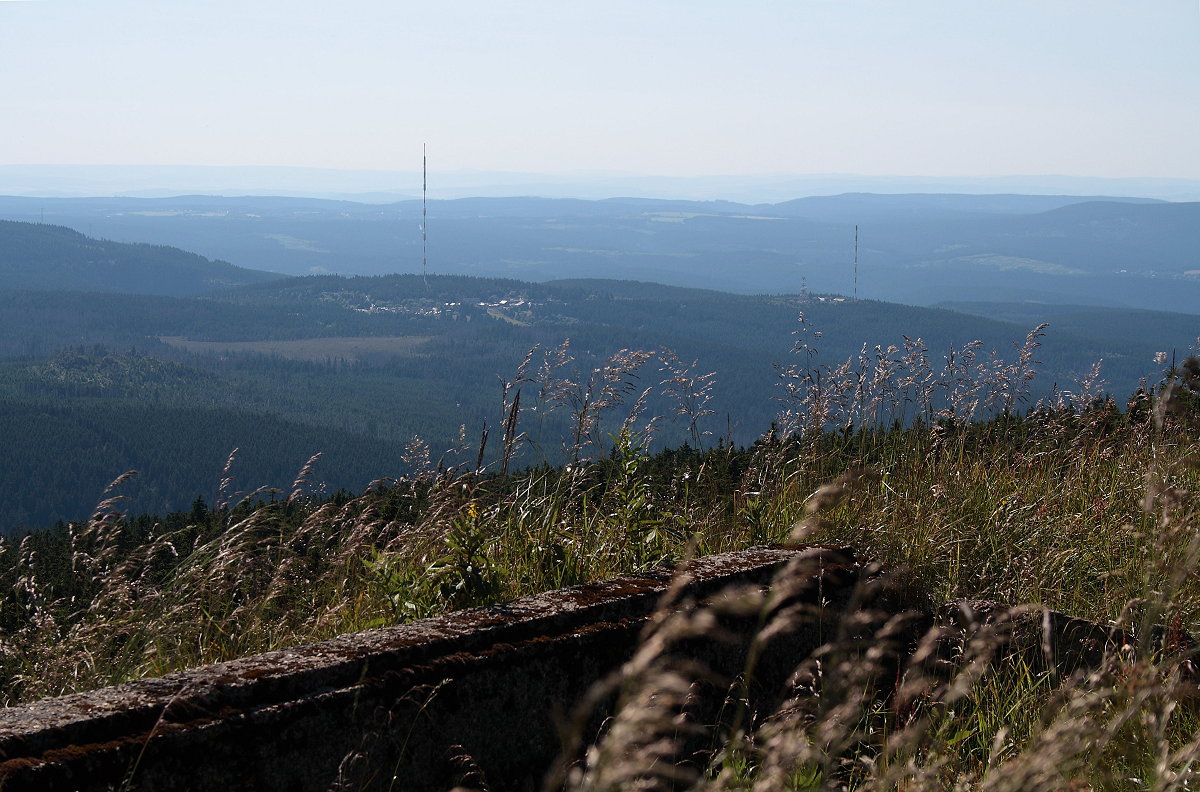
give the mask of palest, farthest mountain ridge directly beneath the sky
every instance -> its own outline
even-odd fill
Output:
[[[414,160],[414,164],[419,164]],[[547,198],[726,199],[743,203],[802,196],[875,193],[1116,194],[1200,200],[1200,180],[1090,178],[1054,174],[1012,176],[900,176],[850,173],[762,173],[662,176],[624,172],[505,173],[431,172],[430,197],[545,196]],[[0,194],[41,197],[296,196],[389,203],[419,196],[421,172],[295,167],[0,164]]]

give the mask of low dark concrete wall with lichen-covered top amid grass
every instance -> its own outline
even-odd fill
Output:
[[[698,559],[688,595],[764,584],[796,552]],[[822,552],[811,598],[835,618],[863,570]],[[445,790],[470,773],[496,792],[539,788],[565,713],[630,656],[670,580],[619,577],[0,710],[2,790]],[[778,671],[823,630],[793,636]]]

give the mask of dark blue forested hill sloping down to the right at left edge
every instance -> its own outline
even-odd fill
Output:
[[[191,295],[281,277],[163,245],[92,239],[64,226],[0,220],[6,289]]]

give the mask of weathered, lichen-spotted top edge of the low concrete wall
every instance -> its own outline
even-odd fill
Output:
[[[696,559],[683,570],[694,581],[689,595],[707,596],[750,578],[764,582],[764,575],[794,554],[794,550],[755,547]],[[628,575],[6,708],[0,710],[0,762],[144,733],[169,712],[212,712],[215,704],[258,709],[331,694],[359,684],[368,666],[377,674],[446,654],[479,653],[611,618],[644,616],[673,575],[674,570]]]

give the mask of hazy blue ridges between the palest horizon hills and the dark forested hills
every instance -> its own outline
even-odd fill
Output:
[[[109,239],[288,275],[424,269],[742,294],[806,288],[910,305],[985,295],[1200,313],[1200,203],[924,193],[779,204],[476,197],[430,202],[422,220],[420,200],[0,197],[0,217],[43,212]]]

